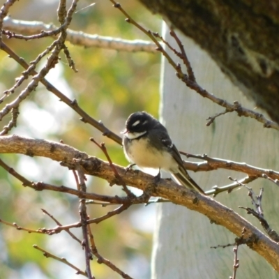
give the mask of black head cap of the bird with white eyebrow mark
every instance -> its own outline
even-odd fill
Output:
[[[126,132],[143,133],[154,128],[158,121],[147,112],[134,112],[126,121]]]

